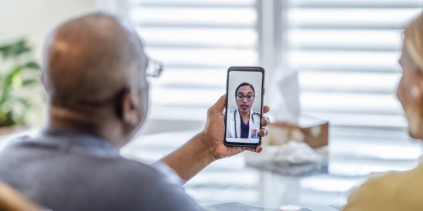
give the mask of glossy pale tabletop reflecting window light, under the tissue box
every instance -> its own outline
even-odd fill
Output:
[[[154,162],[198,131],[140,136],[122,148],[125,158]],[[407,132],[331,128],[329,146],[319,148],[320,163],[245,164],[245,152],[217,160],[188,181],[185,191],[200,205],[242,203],[276,209],[294,204],[309,210],[337,210],[350,191],[370,174],[410,170],[422,155],[422,143]],[[266,148],[264,148],[266,150]]]

